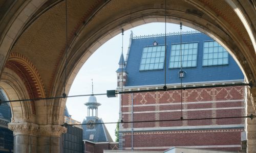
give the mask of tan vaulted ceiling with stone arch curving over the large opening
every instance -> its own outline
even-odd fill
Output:
[[[3,6],[0,1],[0,7]],[[27,57],[38,70],[42,82],[45,85],[47,95],[52,95],[54,86],[60,83],[58,79],[63,73],[63,57],[66,44],[66,14],[65,2],[48,1],[53,4],[50,7],[42,5],[41,9],[27,23],[23,32],[15,41],[10,53],[19,53]],[[78,70],[81,63],[105,41],[111,39],[120,29],[125,30],[137,25],[164,21],[164,1],[154,0],[131,0],[131,1],[68,1],[68,74],[71,82],[75,74],[73,70]],[[247,57],[248,64],[254,64],[248,57],[254,57],[255,51],[250,38],[232,8],[222,0],[218,1],[167,1],[167,14],[169,22],[179,22],[182,20],[185,25],[198,29],[211,36],[223,36],[221,39],[236,38],[244,48],[230,48],[234,56],[243,64]],[[1,14],[0,14],[1,15]],[[208,23],[207,23],[208,22]],[[216,31],[214,31],[216,29]],[[212,30],[212,31],[211,31]],[[223,34],[219,31],[226,31]],[[150,32],[149,32],[150,33]],[[239,37],[238,37],[239,36]],[[233,40],[225,40],[232,42]],[[228,46],[228,44],[226,44]],[[229,45],[230,47],[232,45]],[[239,52],[247,49],[248,52]],[[237,50],[237,51],[236,51]],[[80,63],[79,63],[80,62]],[[244,66],[244,65],[242,65]],[[246,66],[244,66],[246,68]],[[253,66],[251,66],[253,67]],[[245,69],[247,74],[251,74],[255,69]],[[255,78],[255,77],[254,77]]]

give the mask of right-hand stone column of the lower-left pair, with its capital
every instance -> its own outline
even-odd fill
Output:
[[[66,133],[66,131],[66,127],[61,125],[40,125],[37,138],[37,152],[59,152],[60,136],[62,133]]]

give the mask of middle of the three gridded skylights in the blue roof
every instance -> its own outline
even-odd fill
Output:
[[[180,58],[182,58],[182,67],[196,67],[198,43],[181,44],[181,49],[182,56],[180,57],[180,44],[172,45],[169,68],[180,68]]]

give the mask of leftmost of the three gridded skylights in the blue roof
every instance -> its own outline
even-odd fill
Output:
[[[164,45],[144,47],[140,62],[140,70],[163,69]]]

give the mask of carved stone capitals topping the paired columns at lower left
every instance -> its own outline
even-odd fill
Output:
[[[37,125],[34,123],[8,123],[8,128],[14,135],[33,135],[33,136],[54,136],[60,137],[66,133],[67,129],[61,125]]]

